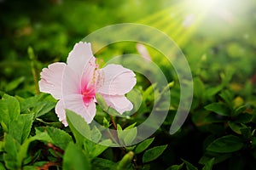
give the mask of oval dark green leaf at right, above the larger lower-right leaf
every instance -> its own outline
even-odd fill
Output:
[[[229,108],[222,103],[212,103],[210,105],[205,106],[205,109],[207,111],[213,111],[214,113],[217,113],[221,116],[230,116],[231,112]]]

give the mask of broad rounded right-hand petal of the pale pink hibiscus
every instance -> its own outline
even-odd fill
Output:
[[[97,92],[107,95],[127,94],[136,84],[133,71],[122,65],[107,65],[99,71]]]

